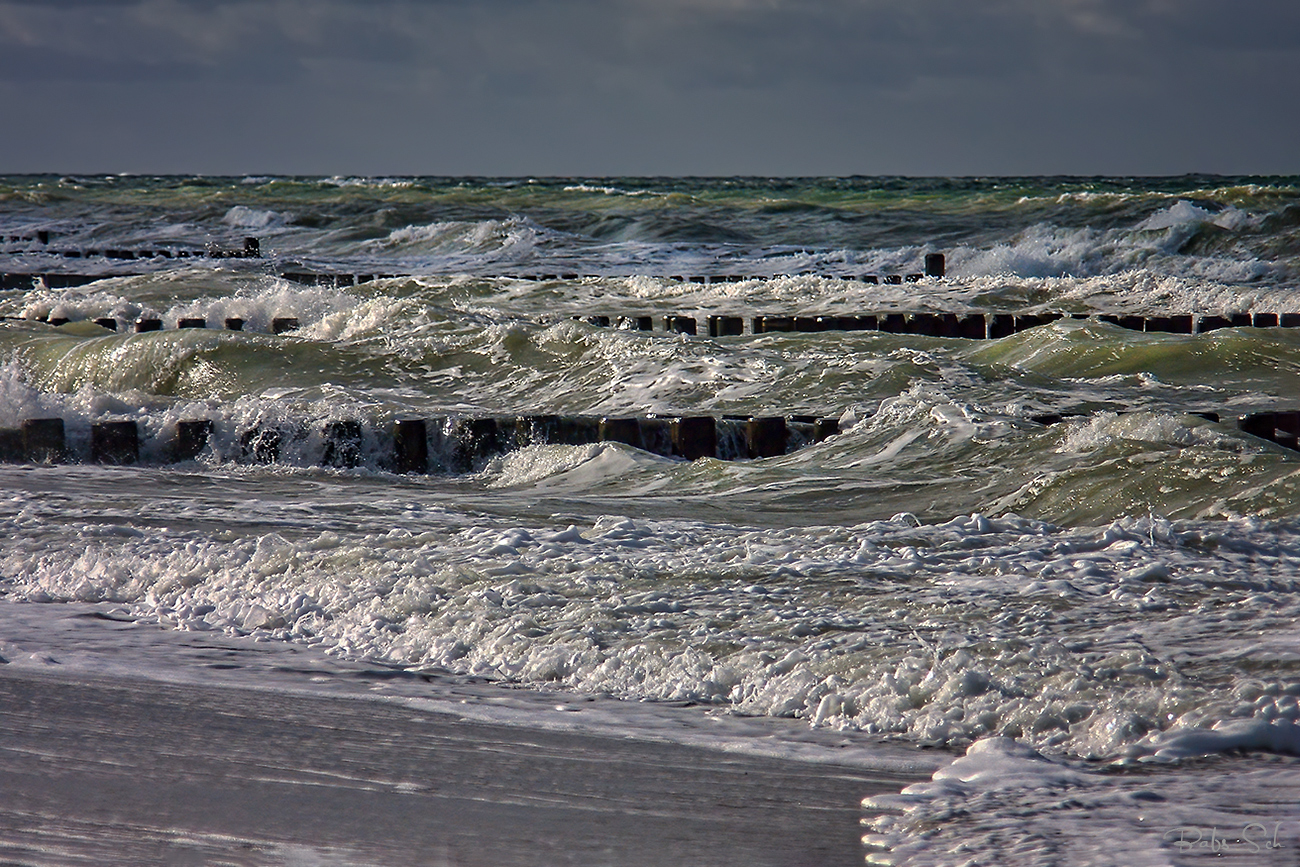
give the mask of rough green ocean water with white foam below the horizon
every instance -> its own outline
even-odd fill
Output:
[[[65,255],[246,237],[261,257]],[[942,278],[845,278],[933,252]],[[1300,452],[1235,424],[1300,409],[1300,329],[1100,318],[1300,312],[1300,178],[9,177],[0,272],[101,277],[0,294],[0,428],[60,417],[74,458],[98,421],[142,432],[138,467],[0,465],[5,601],[610,697],[629,731],[653,706],[770,720],[770,751],[954,759],[863,805],[872,862],[1300,858]],[[1070,316],[991,341],[575,318],[900,311]],[[172,328],[194,316],[246,325]],[[391,472],[395,419],[515,413],[840,434]],[[209,447],[169,463],[192,419]],[[359,459],[324,468],[341,420]],[[243,458],[257,425],[292,432],[272,463]]]

